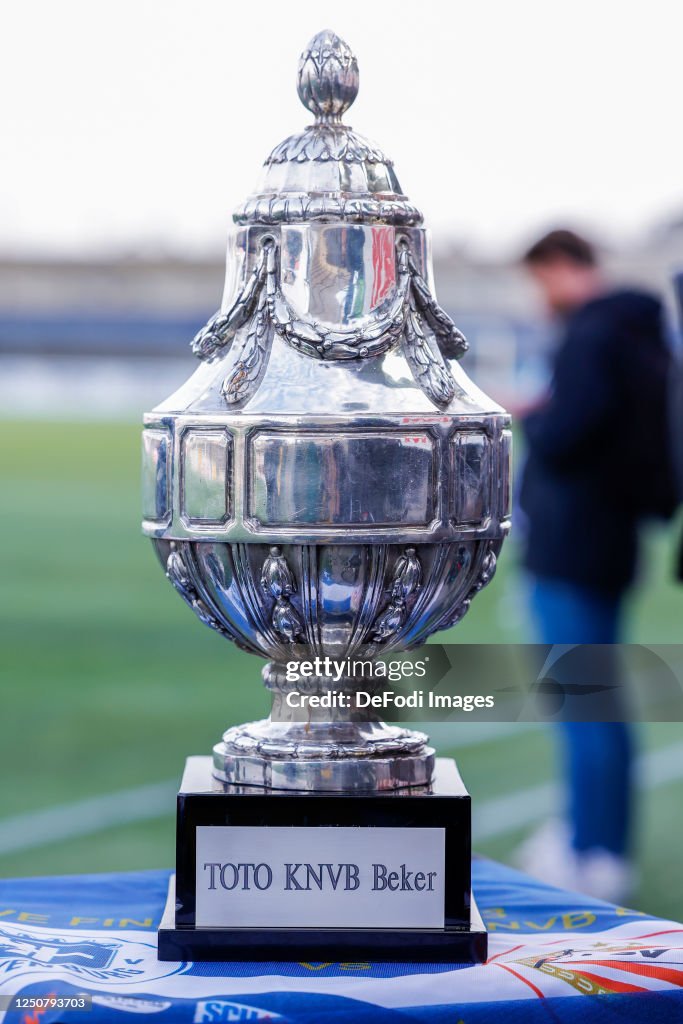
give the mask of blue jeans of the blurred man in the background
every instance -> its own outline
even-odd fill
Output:
[[[530,606],[544,644],[612,644],[621,600],[560,580],[531,580]],[[627,852],[633,737],[625,722],[562,722],[568,819],[578,851]]]

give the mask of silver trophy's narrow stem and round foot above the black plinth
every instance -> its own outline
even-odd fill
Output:
[[[357,679],[316,676],[293,682],[285,666],[270,662],[263,680],[273,694],[270,717],[224,733],[213,752],[214,776],[221,782],[316,793],[430,785],[429,737],[356,710]],[[362,687],[368,689],[367,681]],[[306,703],[302,713],[301,698],[318,694],[331,694],[332,707]]]

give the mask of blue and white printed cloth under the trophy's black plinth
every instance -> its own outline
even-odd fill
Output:
[[[92,995],[23,1024],[683,1021],[683,925],[475,860],[486,964],[162,964],[168,871],[0,883],[0,993]],[[3,1014],[0,1013],[0,1018]]]

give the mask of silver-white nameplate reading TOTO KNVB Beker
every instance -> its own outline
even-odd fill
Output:
[[[198,825],[198,928],[443,928],[443,828]]]

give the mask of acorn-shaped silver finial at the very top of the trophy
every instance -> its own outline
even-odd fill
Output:
[[[350,46],[329,29],[313,36],[299,58],[297,91],[315,121],[341,121],[358,94],[358,63]]]

